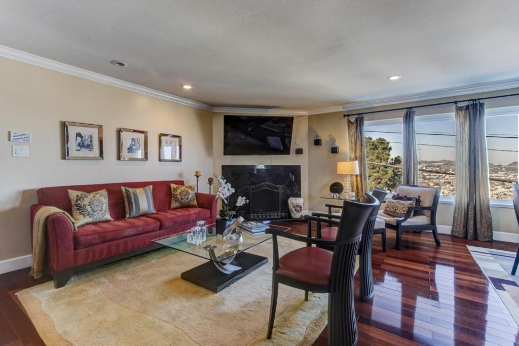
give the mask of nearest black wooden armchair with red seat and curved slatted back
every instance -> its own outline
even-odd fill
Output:
[[[370,195],[365,196],[362,202],[344,201],[343,214],[337,222],[338,234],[335,240],[316,239],[267,229],[266,232],[272,234],[274,254],[267,339],[272,337],[278,287],[281,283],[304,290],[305,299],[308,298],[308,291],[328,293],[328,344],[345,346],[357,344],[357,322],[353,302],[355,258],[362,230],[376,205],[378,201]],[[296,240],[306,243],[307,246],[300,247],[280,258],[277,237]],[[335,251],[311,246],[312,244],[334,246]]]

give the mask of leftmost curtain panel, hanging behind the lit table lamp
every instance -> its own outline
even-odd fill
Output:
[[[351,177],[351,191],[356,196],[367,192],[366,144],[364,143],[364,116],[357,116],[353,121],[348,118],[348,142],[350,161],[359,161],[359,175]]]

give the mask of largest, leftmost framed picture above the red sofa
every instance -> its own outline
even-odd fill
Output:
[[[103,126],[65,121],[65,160],[102,160]]]

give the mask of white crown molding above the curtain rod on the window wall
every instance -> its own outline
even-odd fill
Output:
[[[448,97],[452,97],[452,96],[468,95],[468,94],[513,89],[513,88],[519,88],[519,79],[498,81],[498,82],[487,83],[487,84],[478,84],[478,85],[472,85],[472,86],[456,88],[456,89],[444,89],[444,90],[438,90],[438,91],[432,91],[432,92],[424,92],[424,93],[420,93],[420,94],[400,96],[398,98],[387,98],[387,99],[378,99],[378,100],[371,100],[371,101],[346,103],[346,104],[338,105],[338,106],[331,106],[331,107],[325,107],[325,108],[316,109],[316,110],[309,110],[308,115],[316,115],[316,114],[332,113],[332,112],[343,112],[345,110],[351,110],[351,109],[380,107],[380,106],[387,106],[387,105],[398,104],[398,103],[409,103],[409,102],[433,100],[433,99],[440,99],[440,98],[448,98]]]

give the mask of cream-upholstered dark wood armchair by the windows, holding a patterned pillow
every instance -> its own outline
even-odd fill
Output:
[[[378,217],[384,220],[386,228],[397,232],[395,248],[401,250],[402,232],[417,231],[432,231],[436,246],[440,246],[438,226],[436,226],[436,211],[438,210],[438,202],[440,201],[442,188],[400,185],[396,192],[408,196],[419,195],[421,197],[421,205],[409,207],[407,213],[402,217],[393,217],[384,213],[384,210],[378,212]]]

